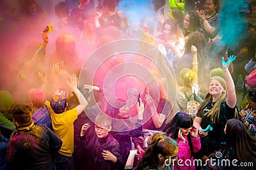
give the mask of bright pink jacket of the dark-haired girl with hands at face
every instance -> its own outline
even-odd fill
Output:
[[[179,147],[179,152],[177,155],[178,160],[182,160],[182,162],[180,163],[180,166],[178,166],[177,162],[174,166],[174,169],[190,169],[190,170],[194,170],[196,169],[196,167],[193,165],[193,152],[198,152],[201,148],[201,143],[200,143],[200,138],[191,138],[191,143],[193,146],[193,152],[191,151],[190,145],[189,145],[189,141],[188,141],[188,136],[184,136],[184,138],[186,139],[186,143],[180,141],[179,138],[176,139],[176,141],[178,142],[178,147]],[[188,164],[188,160],[190,160],[191,164],[189,166],[186,165],[186,163]],[[186,162],[186,163],[185,163]],[[181,166],[182,165],[182,166]]]

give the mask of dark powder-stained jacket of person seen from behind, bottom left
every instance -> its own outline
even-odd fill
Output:
[[[60,150],[61,139],[48,127],[33,122],[17,133],[6,150],[12,169],[53,169],[51,156]]]

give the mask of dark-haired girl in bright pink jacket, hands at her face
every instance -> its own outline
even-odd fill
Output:
[[[193,165],[193,153],[201,148],[198,129],[193,125],[193,119],[185,111],[178,112],[173,120],[166,125],[164,132],[177,141],[179,152],[175,161],[174,169],[195,169]],[[182,161],[181,161],[182,160]],[[187,160],[191,160],[191,164]]]

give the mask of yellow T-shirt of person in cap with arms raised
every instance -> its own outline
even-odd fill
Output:
[[[67,157],[72,157],[72,153],[74,152],[73,123],[78,116],[76,108],[56,114],[51,109],[49,101],[46,101],[45,104],[48,106],[51,113],[53,131],[63,142],[59,152]]]

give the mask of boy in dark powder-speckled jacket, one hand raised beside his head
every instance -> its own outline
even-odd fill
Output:
[[[81,128],[80,141],[83,147],[92,154],[92,165],[88,169],[118,169],[122,166],[120,145],[109,132],[111,131],[111,118],[105,113],[99,113],[95,118],[95,133],[86,132],[90,124]]]

